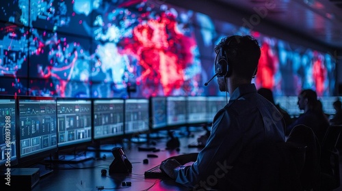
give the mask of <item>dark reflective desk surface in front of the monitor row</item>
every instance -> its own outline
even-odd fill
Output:
[[[116,174],[101,176],[101,169],[107,169],[109,171],[109,165],[113,161],[114,157],[111,152],[104,151],[101,152],[101,156],[105,154],[106,159],[101,160],[88,160],[78,164],[55,164],[54,171],[49,175],[40,178],[39,183],[34,187],[33,191],[97,191],[96,186],[104,186],[112,188],[110,190],[189,190],[175,183],[174,180],[160,180],[160,179],[144,179],[144,172],[160,164],[162,160],[169,158],[171,156],[177,156],[183,153],[198,152],[198,148],[188,148],[187,145],[196,141],[196,138],[202,134],[204,131],[192,132],[194,136],[183,136],[179,138],[181,147],[179,151],[167,150],[166,142],[168,138],[156,139],[156,145],[146,145],[137,143],[122,143],[122,148],[126,153],[127,158],[132,163],[132,173],[131,174]],[[115,147],[118,145],[112,145]],[[138,151],[139,146],[153,146],[160,149],[159,152],[152,151]],[[111,148],[112,148],[111,147]],[[110,148],[110,146],[109,146]],[[148,158],[148,164],[143,164],[143,160],[147,158],[148,153],[154,153],[158,158]],[[94,154],[89,151],[87,155]],[[67,168],[62,169],[62,168]],[[121,183],[123,181],[130,181],[130,187],[122,187]],[[115,189],[114,189],[115,188]]]

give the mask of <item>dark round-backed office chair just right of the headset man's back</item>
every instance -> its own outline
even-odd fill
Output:
[[[319,158],[321,147],[315,133],[304,125],[295,126],[287,138],[287,143],[306,147],[304,161],[296,162],[303,190],[319,190]]]

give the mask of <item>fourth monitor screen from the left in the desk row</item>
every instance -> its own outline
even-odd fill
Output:
[[[124,100],[94,100],[94,139],[124,134]]]

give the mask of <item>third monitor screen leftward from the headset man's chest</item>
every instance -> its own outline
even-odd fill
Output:
[[[166,99],[168,126],[180,126],[187,123],[186,101],[187,99],[185,96],[171,96]]]

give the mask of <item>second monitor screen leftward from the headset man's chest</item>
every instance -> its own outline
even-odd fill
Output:
[[[187,123],[206,123],[207,98],[204,96],[187,97]]]

